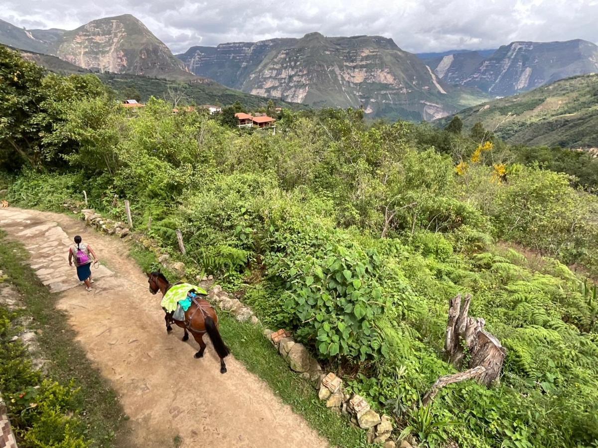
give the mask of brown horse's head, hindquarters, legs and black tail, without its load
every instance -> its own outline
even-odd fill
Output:
[[[151,274],[147,274],[147,276],[149,291],[151,291],[152,294],[156,294],[158,291],[160,291],[162,296],[164,296],[166,291],[172,286],[169,281],[166,280],[164,274],[162,274],[160,271],[152,272]],[[199,343],[200,346],[199,352],[195,354],[196,358],[203,357],[203,351],[206,349],[206,344],[203,342],[203,335],[208,333],[210,340],[212,340],[212,345],[220,357],[220,373],[226,373],[226,364],[224,364],[224,358],[227,357],[227,355],[230,353],[230,350],[224,344],[222,337],[218,332],[218,316],[208,300],[193,300],[193,303],[191,303],[189,309],[185,311],[184,322],[174,320],[172,318],[172,312],[166,312],[164,320],[166,321],[167,333],[172,332],[172,327],[170,326],[171,323],[175,323],[185,330],[185,336],[183,336],[183,340],[189,339],[189,333],[187,333],[187,330],[191,332],[194,339],[197,343]]]

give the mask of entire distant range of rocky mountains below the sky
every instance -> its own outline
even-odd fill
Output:
[[[92,20],[75,30],[25,30],[0,20],[0,43],[37,55],[30,57],[40,63],[56,65],[48,59],[54,56],[93,72],[188,82],[209,78],[257,96],[363,108],[370,117],[412,121],[442,118],[492,97],[598,72],[598,47],[579,39],[416,55],[382,36],[314,32],[191,47],[175,57],[130,14]]]

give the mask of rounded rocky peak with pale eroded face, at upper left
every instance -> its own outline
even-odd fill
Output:
[[[128,14],[93,20],[65,32],[57,56],[100,72],[167,76],[187,71],[163,42]]]

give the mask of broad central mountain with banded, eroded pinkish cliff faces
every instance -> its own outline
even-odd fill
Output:
[[[372,116],[408,119],[454,111],[435,73],[392,39],[379,36],[309,33],[301,39],[193,47],[179,58],[197,75],[291,102],[363,107]]]

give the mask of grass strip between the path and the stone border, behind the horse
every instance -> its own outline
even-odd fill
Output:
[[[132,249],[130,256],[143,269],[157,263],[154,254],[139,244]],[[226,311],[219,311],[218,318],[222,338],[234,357],[241,361],[249,372],[266,381],[285,404],[303,416],[332,446],[368,446],[365,431],[353,428],[348,418],[327,409],[324,403],[318,400],[312,385],[289,369],[288,364],[262,335],[260,326],[240,323]]]

